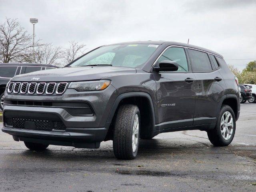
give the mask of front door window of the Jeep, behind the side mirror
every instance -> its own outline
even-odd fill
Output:
[[[180,47],[168,48],[162,54],[162,56],[160,56],[160,58],[158,59],[158,62],[165,61],[165,60],[175,61],[176,63],[178,63],[178,65],[179,65],[179,68],[177,70],[178,72],[179,71],[188,71],[188,62],[187,62],[184,48],[180,48]]]

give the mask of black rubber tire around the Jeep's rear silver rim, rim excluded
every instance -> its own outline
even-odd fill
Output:
[[[221,118],[222,118],[222,115],[224,114],[224,112],[230,112],[231,115],[232,115],[232,118],[233,118],[233,124],[234,124],[234,127],[233,127],[233,133],[232,133],[232,136],[228,139],[228,140],[225,140],[221,134],[221,128],[220,128],[220,121],[221,121]],[[224,144],[224,145],[229,145],[233,138],[234,138],[234,135],[235,135],[235,132],[236,132],[236,117],[235,117],[235,114],[232,110],[232,108],[230,108],[230,106],[223,106],[220,110],[220,115],[218,117],[218,120],[217,120],[217,125],[216,125],[216,128],[217,128],[217,134],[218,134],[218,137],[220,137],[220,140],[221,142]]]

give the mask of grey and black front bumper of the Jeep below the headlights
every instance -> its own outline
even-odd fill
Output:
[[[62,96],[22,96],[5,94],[8,100],[86,102],[94,112],[93,116],[72,116],[65,109],[58,107],[5,105],[3,110],[3,132],[11,134],[16,141],[28,141],[43,144],[74,146],[77,148],[98,148],[105,140],[110,110],[116,99],[116,89],[109,86],[106,90],[95,92],[76,92],[66,90]],[[29,124],[23,128],[6,124],[7,118],[30,118],[56,120],[63,122],[64,130],[35,130]],[[51,119],[52,118],[52,119]],[[26,121],[26,120],[25,120]],[[27,127],[28,126],[28,127]]]

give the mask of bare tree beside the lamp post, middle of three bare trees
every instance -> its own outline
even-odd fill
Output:
[[[23,62],[60,65],[61,57],[62,47],[53,46],[51,43],[40,44],[34,48],[34,53],[32,49],[29,51]]]

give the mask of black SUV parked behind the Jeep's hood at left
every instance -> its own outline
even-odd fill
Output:
[[[42,64],[20,64],[20,63],[0,63],[0,109],[3,110],[3,96],[4,90],[8,81],[15,75],[40,71],[45,69],[58,68],[54,65]]]

